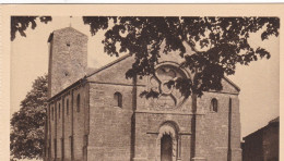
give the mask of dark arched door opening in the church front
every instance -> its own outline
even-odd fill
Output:
[[[173,161],[173,139],[170,135],[161,138],[161,161]]]

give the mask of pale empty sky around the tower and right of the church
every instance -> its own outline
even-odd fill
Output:
[[[104,52],[102,40],[104,32],[91,36],[90,26],[84,25],[82,17],[52,17],[48,24],[37,23],[35,29],[26,30],[27,37],[19,34],[11,42],[11,108],[12,113],[20,109],[21,101],[37,76],[48,72],[47,39],[52,30],[72,26],[88,36],[87,63],[90,67],[100,67],[117,58]],[[280,99],[280,41],[271,37],[261,41],[259,34],[251,35],[250,44],[261,46],[271,53],[271,59],[252,62],[249,66],[238,65],[236,74],[228,76],[240,87],[240,123],[241,136],[265,126],[269,121],[279,116]]]

